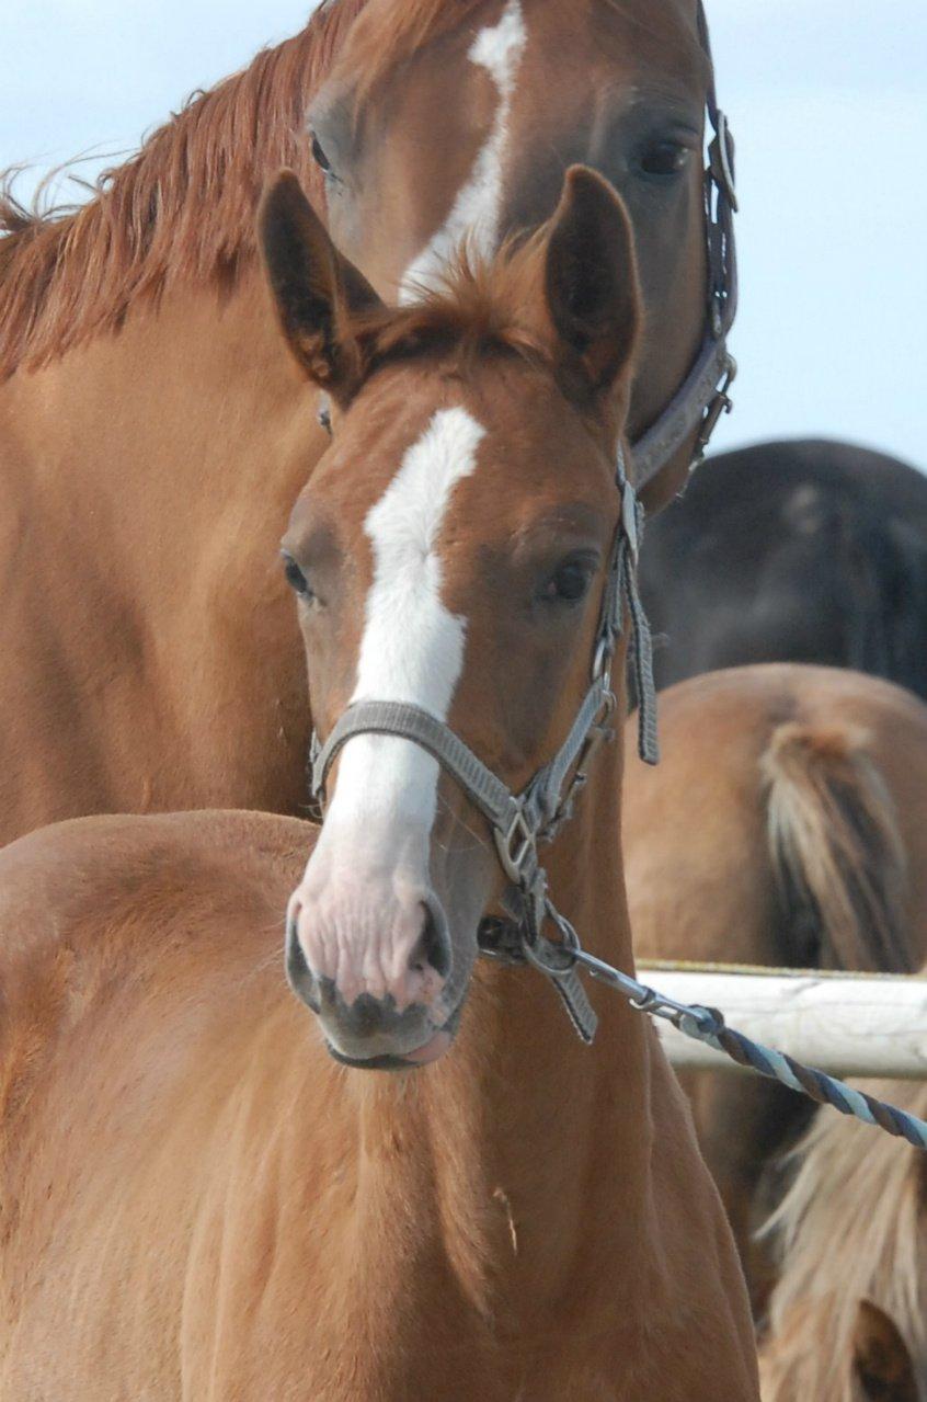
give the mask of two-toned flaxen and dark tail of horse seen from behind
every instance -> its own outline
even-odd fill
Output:
[[[760,768],[790,962],[913,973],[905,847],[865,730],[781,725]]]

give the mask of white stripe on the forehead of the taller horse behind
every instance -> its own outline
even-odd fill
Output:
[[[457,192],[450,215],[405,269],[400,286],[402,303],[415,301],[421,287],[432,286],[439,279],[447,258],[464,238],[477,255],[485,257],[496,247],[509,114],[526,39],[520,0],[506,0],[499,22],[481,29],[470,46],[467,57],[487,70],[499,93],[495,119],[470,179]]]

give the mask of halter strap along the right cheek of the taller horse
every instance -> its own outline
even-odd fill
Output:
[[[634,479],[638,491],[656,477],[696,430],[698,436],[691,465],[698,465],[721,414],[731,409],[728,390],[736,374],[736,362],[726,348],[726,335],[738,310],[733,137],[728,119],[718,107],[703,0],[698,0],[697,22],[698,39],[708,60],[705,109],[712,130],[704,174],[708,315],[696,363],[659,418],[632,446]]]

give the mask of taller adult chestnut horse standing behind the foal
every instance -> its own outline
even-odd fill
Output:
[[[721,126],[707,186],[705,100]],[[268,174],[324,184],[338,241],[381,293],[411,296],[459,238],[489,251],[546,219],[571,161],[603,171],[640,248],[630,428],[656,505],[684,479],[725,363],[728,157],[700,0],[335,0],[79,213],[10,206],[0,837],[100,810],[304,799],[306,684],[276,550],[324,433],[257,271]]]

